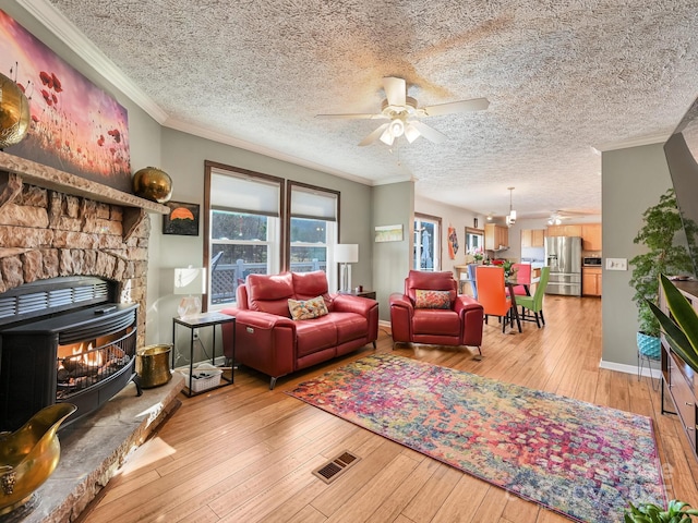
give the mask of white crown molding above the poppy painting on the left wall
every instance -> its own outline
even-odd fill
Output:
[[[93,44],[63,13],[46,0],[16,0],[32,16],[64,42],[75,54],[89,64],[99,75],[128,96],[158,123],[167,113],[143,89],[131,81]]]

